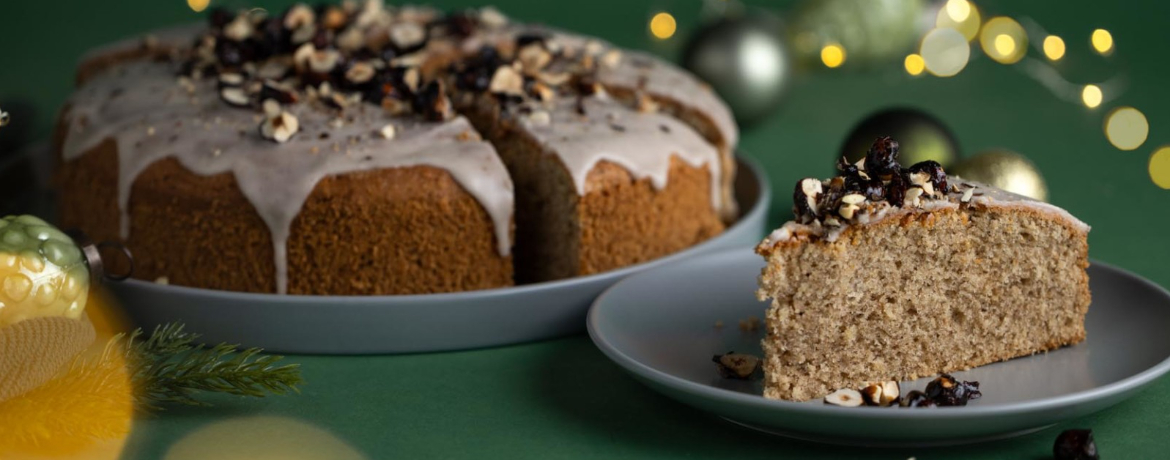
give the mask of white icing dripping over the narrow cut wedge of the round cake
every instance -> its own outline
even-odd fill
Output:
[[[663,114],[635,111],[605,96],[585,97],[580,107],[585,116],[578,112],[578,101],[562,97],[553,102],[548,121],[538,121],[537,112],[519,116],[529,133],[560,158],[579,194],[586,193],[589,173],[601,160],[621,165],[638,179],[649,178],[662,190],[675,156],[691,166],[707,166],[711,206],[722,208],[720,153],[690,126]]]

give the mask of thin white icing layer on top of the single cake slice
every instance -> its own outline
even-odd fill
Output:
[[[959,193],[950,192],[947,194],[947,199],[923,200],[921,205],[917,207],[915,206],[893,207],[889,204],[881,201],[875,204],[876,207],[870,213],[865,214],[867,219],[865,222],[861,222],[860,221],[861,219],[859,218],[859,222],[853,225],[876,224],[885,219],[901,217],[914,212],[956,210],[959,207],[959,198],[963,194],[962,190],[964,187],[973,186],[975,193],[978,193],[978,195],[973,195],[971,198],[972,204],[986,207],[998,207],[998,208],[1013,208],[1013,207],[1026,208],[1064,220],[1065,222],[1069,224],[1074,229],[1081,233],[1088,233],[1090,229],[1088,224],[1085,224],[1080,219],[1076,219],[1075,217],[1073,217],[1073,214],[1069,214],[1068,211],[1065,211],[1064,208],[1051,205],[1048,202],[1038,201],[1028,197],[1024,197],[1020,194],[992,187],[990,185],[984,185],[970,180],[963,180],[962,178],[955,176],[949,177],[948,181],[950,184],[957,185],[961,192]],[[772,231],[772,233],[770,233],[766,238],[764,238],[764,241],[762,241],[758,247],[760,249],[766,250],[780,242],[792,241],[801,236],[811,236],[821,239],[824,241],[833,242],[837,240],[838,236],[840,236],[840,234],[848,226],[849,224],[830,228],[821,226],[821,224],[818,221],[812,221],[810,224],[787,221],[779,228]]]

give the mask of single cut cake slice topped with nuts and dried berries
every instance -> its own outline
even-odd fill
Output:
[[[803,179],[768,266],[764,396],[807,400],[1085,339],[1089,227],[1068,212],[903,169],[880,138],[840,176]]]

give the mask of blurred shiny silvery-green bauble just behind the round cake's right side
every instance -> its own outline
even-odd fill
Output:
[[[792,68],[780,21],[764,11],[701,26],[687,42],[682,66],[727,101],[741,124],[772,112]]]

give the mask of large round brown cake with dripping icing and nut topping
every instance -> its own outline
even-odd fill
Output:
[[[600,40],[380,1],[103,47],[56,136],[61,222],[135,276],[256,293],[507,287],[652,260],[735,215],[736,129]]]

